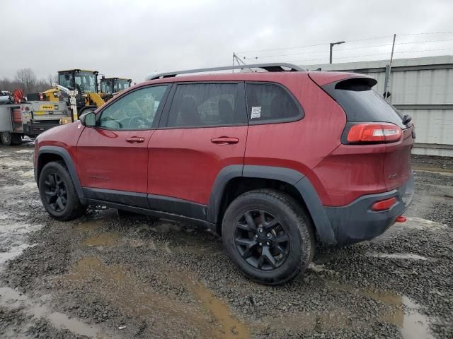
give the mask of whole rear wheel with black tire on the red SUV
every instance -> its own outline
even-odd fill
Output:
[[[231,202],[222,241],[231,261],[265,285],[287,283],[303,273],[315,250],[308,213],[291,196],[270,189],[249,191]]]

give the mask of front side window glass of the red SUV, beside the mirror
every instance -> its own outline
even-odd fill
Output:
[[[98,125],[107,129],[150,129],[167,85],[134,90],[101,112]]]

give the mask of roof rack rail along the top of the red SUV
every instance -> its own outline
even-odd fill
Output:
[[[284,69],[287,68],[289,70]],[[145,78],[146,81],[155,80],[159,78],[172,78],[173,76],[178,76],[180,74],[189,74],[189,73],[202,73],[202,72],[212,72],[212,71],[228,71],[234,69],[264,69],[268,72],[294,72],[294,71],[306,71],[306,69],[302,69],[294,64],[288,64],[285,62],[278,63],[273,62],[270,64],[251,64],[251,65],[237,65],[237,66],[222,66],[222,67],[211,67],[208,69],[188,69],[185,71],[177,71],[177,72],[168,72],[168,73],[159,73],[159,74],[151,74]]]

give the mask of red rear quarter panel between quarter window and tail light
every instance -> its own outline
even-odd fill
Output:
[[[346,117],[306,73],[280,83],[302,103],[305,117],[285,124],[249,126],[245,165],[287,167],[309,176],[340,144]]]

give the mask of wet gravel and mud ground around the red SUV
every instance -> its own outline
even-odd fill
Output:
[[[453,165],[414,167],[407,222],[266,287],[193,225],[52,220],[33,143],[0,145],[0,338],[453,338]]]

